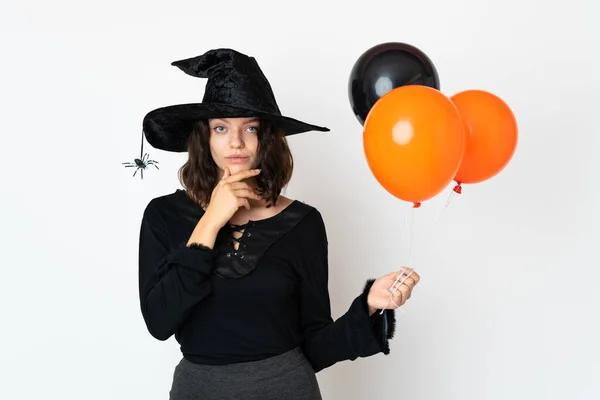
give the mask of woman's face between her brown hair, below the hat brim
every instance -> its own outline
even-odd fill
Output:
[[[223,118],[208,121],[210,152],[219,174],[227,166],[231,174],[256,167],[258,118]]]

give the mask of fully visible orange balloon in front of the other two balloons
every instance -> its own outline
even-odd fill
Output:
[[[415,203],[452,182],[466,132],[458,110],[440,91],[401,86],[382,96],[365,120],[363,147],[371,172],[389,193]]]

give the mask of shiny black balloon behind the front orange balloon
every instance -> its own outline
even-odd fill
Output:
[[[361,125],[377,100],[392,89],[423,85],[440,90],[431,59],[406,43],[382,43],[365,51],[354,63],[348,81],[352,111]]]

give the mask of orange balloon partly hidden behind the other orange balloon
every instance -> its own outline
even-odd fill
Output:
[[[515,116],[502,99],[483,90],[466,90],[450,99],[469,127],[454,180],[460,186],[490,179],[506,167],[517,147]]]

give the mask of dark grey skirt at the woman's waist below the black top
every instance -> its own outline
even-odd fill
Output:
[[[175,367],[170,400],[322,400],[315,371],[300,348],[265,360]]]

